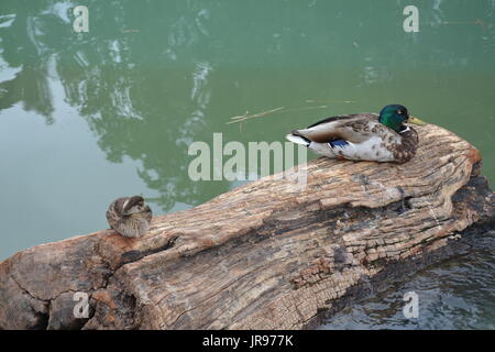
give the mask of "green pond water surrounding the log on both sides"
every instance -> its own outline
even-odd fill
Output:
[[[216,132],[223,144],[283,142],[318,119],[393,102],[474,144],[495,182],[493,0],[87,0],[81,33],[78,4],[0,2],[0,260],[108,228],[120,196],[141,194],[163,215],[240,185],[188,175],[188,146],[212,145]],[[419,32],[403,28],[408,4]],[[322,328],[494,328],[493,280],[469,293],[439,285],[466,267],[491,277],[485,254],[419,273]],[[438,294],[425,290],[429,322],[405,323],[402,290],[425,282]],[[452,296],[461,308],[442,300]],[[438,299],[452,309],[433,311]],[[472,323],[449,324],[458,318]]]

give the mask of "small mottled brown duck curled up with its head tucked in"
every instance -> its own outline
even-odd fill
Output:
[[[141,196],[118,198],[107,210],[110,228],[127,238],[143,237],[152,217],[152,210]]]

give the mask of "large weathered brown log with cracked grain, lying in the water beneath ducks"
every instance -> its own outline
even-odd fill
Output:
[[[319,158],[302,191],[267,177],[157,217],[141,240],[107,230],[20,252],[0,263],[0,327],[307,327],[493,228],[477,151],[418,130],[403,165]],[[89,319],[73,316],[76,292]]]

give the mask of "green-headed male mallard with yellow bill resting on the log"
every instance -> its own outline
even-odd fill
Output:
[[[418,133],[404,123],[425,124],[409,117],[405,107],[389,105],[380,114],[327,118],[292,131],[287,140],[332,158],[405,163],[416,154]]]

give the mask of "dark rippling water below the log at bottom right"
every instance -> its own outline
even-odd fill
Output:
[[[495,329],[495,232],[470,255],[452,258],[345,308],[321,329]],[[418,318],[406,319],[404,294],[418,295]]]

